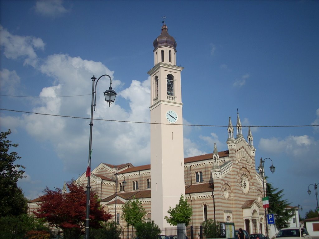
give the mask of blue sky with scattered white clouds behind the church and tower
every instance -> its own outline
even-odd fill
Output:
[[[19,143],[25,196],[62,187],[84,173],[92,80],[109,74],[108,107],[97,86],[94,119],[150,121],[153,40],[165,15],[182,71],[184,156],[227,150],[228,117],[252,127],[269,182],[284,199],[315,209],[319,183],[319,2],[6,1],[1,9],[1,131]],[[81,95],[81,96],[79,96]],[[16,97],[19,96],[19,97]],[[26,97],[28,96],[28,97]],[[32,96],[32,97],[30,97]],[[60,97],[58,97],[60,96]],[[73,97],[61,97],[73,96]],[[51,98],[48,98],[51,97]],[[6,110],[4,110],[6,109]],[[23,112],[13,112],[23,111]],[[92,168],[150,163],[148,124],[94,120]]]

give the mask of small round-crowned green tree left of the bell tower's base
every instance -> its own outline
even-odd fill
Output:
[[[122,218],[126,221],[127,226],[135,227],[135,225],[142,221],[142,218],[146,215],[146,211],[142,206],[142,202],[138,199],[128,200],[122,206]]]

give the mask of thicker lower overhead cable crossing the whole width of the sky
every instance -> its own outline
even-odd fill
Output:
[[[9,109],[1,109],[5,111],[12,112],[20,112],[20,113],[28,113],[28,114],[39,114],[39,115],[48,115],[48,116],[56,116],[56,117],[65,117],[65,118],[74,118],[74,119],[85,119],[90,120],[90,118],[85,117],[77,117],[77,116],[68,116],[68,115],[58,115],[58,114],[45,114],[45,113],[37,113],[37,112],[28,112],[28,111],[20,111],[20,110],[9,110]],[[112,121],[112,122],[124,122],[124,123],[136,123],[136,124],[155,124],[155,125],[172,125],[169,123],[151,123],[151,122],[139,122],[139,121],[127,121],[127,120],[105,120],[105,119],[93,119],[93,120],[102,120],[102,121]],[[201,126],[201,127],[228,127],[228,125],[192,125],[192,124],[174,124],[174,125],[182,125],[182,126]],[[314,127],[319,125],[281,125],[281,126],[241,126],[241,127]]]

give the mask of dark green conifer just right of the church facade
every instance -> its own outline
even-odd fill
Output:
[[[266,192],[269,197],[268,213],[275,215],[276,227],[278,229],[288,227],[288,221],[294,214],[294,208],[288,208],[290,203],[287,199],[282,199],[284,190],[274,188],[271,183],[267,183]]]

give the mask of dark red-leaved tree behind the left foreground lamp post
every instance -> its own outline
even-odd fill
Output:
[[[83,185],[77,185],[74,181],[66,183],[69,192],[63,193],[60,188],[43,191],[40,209],[34,214],[38,218],[44,218],[50,226],[61,228],[65,239],[76,239],[85,232],[86,219],[86,194]],[[94,191],[90,193],[90,228],[100,228],[100,221],[111,218],[103,210]]]

